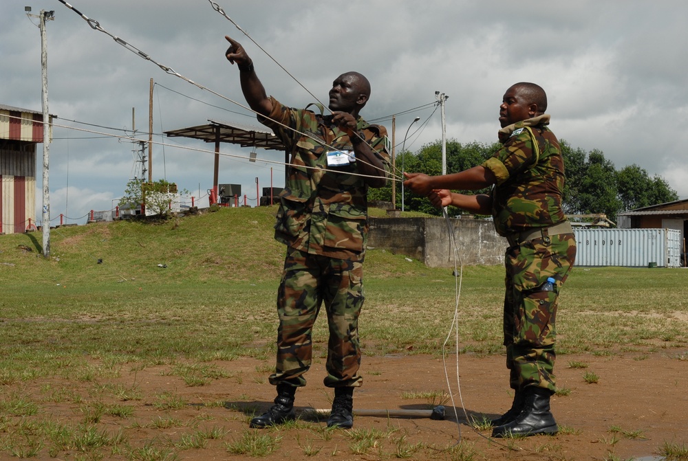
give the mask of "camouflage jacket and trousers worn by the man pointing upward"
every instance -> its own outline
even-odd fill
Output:
[[[305,385],[312,327],[324,302],[330,327],[325,385],[358,387],[363,383],[358,315],[368,232],[365,178],[352,175],[358,172],[353,159],[327,166],[328,151],[353,150],[349,137],[332,125],[331,115],[271,100],[272,112],[259,120],[286,145],[290,165],[275,223],[275,239],[287,245],[287,254],[277,294],[277,366],[270,383]],[[385,127],[361,117],[357,126],[388,168]]]

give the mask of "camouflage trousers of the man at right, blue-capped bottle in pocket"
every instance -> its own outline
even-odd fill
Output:
[[[504,346],[510,387],[555,392],[555,320],[559,291],[576,258],[573,234],[544,236],[509,247],[504,258]],[[555,291],[541,291],[548,277]]]

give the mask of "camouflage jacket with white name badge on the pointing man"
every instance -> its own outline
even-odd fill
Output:
[[[285,188],[279,196],[275,239],[309,254],[363,260],[368,233],[365,178],[352,175],[358,172],[354,159],[327,166],[328,152],[353,150],[349,137],[332,126],[331,115],[289,108],[271,99],[272,112],[259,121],[272,128],[290,154]],[[385,127],[359,117],[358,130],[383,159],[388,173]]]

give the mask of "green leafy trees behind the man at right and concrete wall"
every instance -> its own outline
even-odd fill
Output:
[[[447,141],[447,174],[459,172],[480,165],[492,157],[501,144],[471,142],[462,144],[455,139]],[[566,214],[606,214],[616,222],[616,215],[640,207],[667,203],[678,200],[678,193],[659,175],[650,176],[647,170],[636,164],[616,170],[614,163],[606,159],[601,150],[586,152],[573,148],[561,140],[561,153],[566,170],[566,183],[563,193],[563,210]],[[426,144],[416,153],[402,152],[396,155],[396,167],[407,172],[422,172],[427,175],[442,174],[442,142]],[[391,188],[396,187],[397,210],[401,209],[402,187],[398,181],[389,181],[385,188],[370,189],[368,199],[391,201]],[[489,192],[455,191],[466,194]],[[441,215],[441,210],[433,207],[425,197],[404,190],[404,210]],[[462,214],[461,210],[449,207],[450,216]]]

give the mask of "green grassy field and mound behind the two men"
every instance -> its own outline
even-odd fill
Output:
[[[0,236],[0,458],[61,452],[49,429],[25,427],[45,405],[22,392],[28,387],[55,378],[105,385],[124,364],[160,363],[202,385],[221,372],[199,363],[270,363],[284,254],[272,239],[274,215],[274,207],[231,208],[164,223],[61,227],[52,230],[49,260],[40,233]],[[440,355],[454,315],[451,269],[374,249],[364,271],[365,354]],[[465,267],[462,275],[459,348],[501,354],[502,268]],[[559,355],[688,359],[687,278],[683,269],[574,268],[561,295]],[[326,338],[325,322],[314,335]],[[83,458],[72,459],[100,459],[103,449],[77,452]],[[173,452],[144,456],[130,447],[121,456],[175,459]]]

